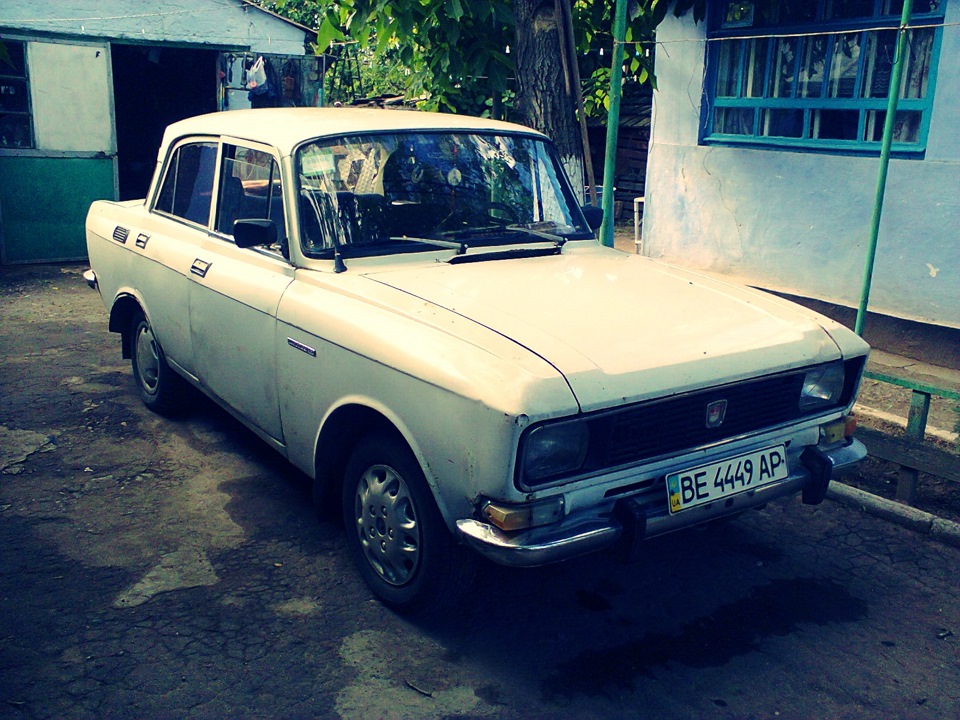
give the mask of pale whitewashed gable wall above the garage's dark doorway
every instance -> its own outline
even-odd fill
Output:
[[[240,0],[0,2],[0,27],[128,42],[303,54],[304,31]]]

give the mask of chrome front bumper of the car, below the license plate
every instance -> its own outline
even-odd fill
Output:
[[[568,516],[560,523],[507,533],[479,520],[458,520],[460,539],[488,559],[501,565],[533,567],[567,560],[577,555],[617,544],[634,553],[645,538],[698,525],[758,507],[771,500],[803,493],[803,501],[823,500],[830,480],[860,462],[867,449],[855,439],[829,450],[810,447],[790,476],[772,485],[741,493],[722,503],[691,508],[676,515],[666,511],[666,489],[656,514],[625,497],[603,513]]]

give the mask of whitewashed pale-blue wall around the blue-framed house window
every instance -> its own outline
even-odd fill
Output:
[[[960,2],[945,22],[926,155],[890,162],[869,308],[960,327]],[[689,16],[657,33],[644,253],[856,307],[878,158],[699,145],[703,38]]]

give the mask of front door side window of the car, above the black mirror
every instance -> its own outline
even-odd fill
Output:
[[[277,237],[286,237],[280,166],[269,153],[224,145],[216,229],[233,235],[233,223],[246,218],[273,220]]]

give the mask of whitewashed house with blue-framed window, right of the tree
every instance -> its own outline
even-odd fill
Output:
[[[644,251],[857,307],[902,2],[708,0],[657,31]],[[915,0],[872,311],[960,328],[960,0]]]

